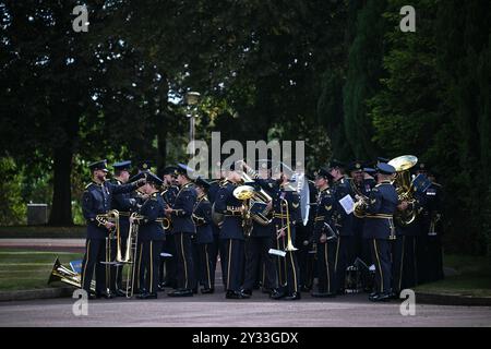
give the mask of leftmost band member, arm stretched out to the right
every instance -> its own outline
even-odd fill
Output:
[[[106,181],[107,161],[100,160],[89,166],[92,182],[85,186],[82,197],[82,213],[87,220],[86,252],[82,263],[82,288],[91,292],[91,281],[96,269],[96,294],[91,298],[110,298],[106,285],[106,267],[100,263],[106,260],[106,238],[115,228],[115,224],[99,215],[106,215],[112,202],[112,196],[129,193],[145,183],[140,179],[135,183],[115,185]]]

